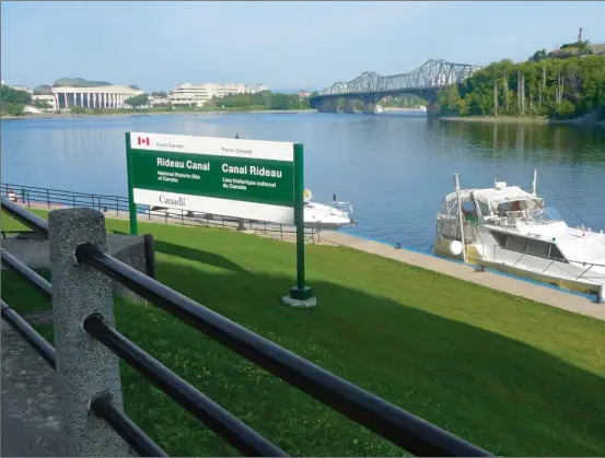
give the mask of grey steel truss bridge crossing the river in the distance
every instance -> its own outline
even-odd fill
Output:
[[[481,68],[431,59],[409,73],[383,77],[365,71],[352,81],[334,83],[323,94],[310,98],[310,102],[319,111],[336,113],[340,110],[339,99],[345,99],[344,110],[352,113],[352,102],[361,101],[363,113],[374,113],[376,103],[385,96],[414,94],[432,105],[439,90],[462,82]]]

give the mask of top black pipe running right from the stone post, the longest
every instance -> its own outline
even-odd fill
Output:
[[[431,423],[352,385],[183,294],[150,279],[92,244],[78,246],[92,266],[290,385],[418,456],[489,456]]]

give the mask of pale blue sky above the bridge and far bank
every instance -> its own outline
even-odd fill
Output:
[[[2,1],[1,13],[1,78],[31,87],[81,77],[148,92],[314,90],[431,58],[524,60],[575,40],[580,26],[605,43],[605,2]]]

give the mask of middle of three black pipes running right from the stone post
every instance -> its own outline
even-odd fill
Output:
[[[86,317],[84,330],[246,456],[287,456],[284,451],[202,395],[121,333],[105,325],[100,315]]]

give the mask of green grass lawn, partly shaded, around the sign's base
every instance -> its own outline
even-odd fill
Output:
[[[107,226],[127,232],[125,221]],[[603,321],[313,245],[306,274],[318,305],[292,309],[280,297],[295,281],[293,244],[201,227],[139,231],[155,237],[163,283],[493,454],[605,454]],[[7,279],[2,296],[19,310],[28,293],[7,297]],[[132,341],[293,456],[404,455],[152,305],[120,301],[116,317]],[[128,414],[170,455],[236,455],[126,366],[123,384]]]

